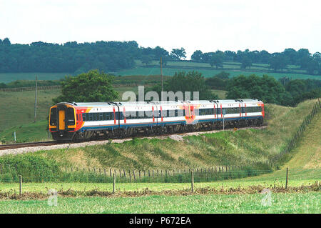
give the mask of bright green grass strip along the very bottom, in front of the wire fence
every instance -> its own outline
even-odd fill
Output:
[[[47,200],[0,201],[1,213],[320,213],[320,192],[271,195],[271,205],[262,204],[263,194],[148,196],[148,197],[58,197],[57,206]]]

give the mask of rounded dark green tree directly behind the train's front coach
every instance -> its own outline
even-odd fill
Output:
[[[112,86],[113,76],[91,70],[78,76],[66,76],[61,81],[63,86],[61,96],[53,99],[58,102],[106,102],[118,97],[118,92]]]

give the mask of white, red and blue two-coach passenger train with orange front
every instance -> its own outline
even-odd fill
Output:
[[[264,117],[258,99],[61,102],[50,108],[49,131],[56,141],[114,139],[260,126]]]

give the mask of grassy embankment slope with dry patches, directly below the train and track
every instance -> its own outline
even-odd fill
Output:
[[[295,108],[266,105],[265,129],[240,129],[173,139],[134,139],[122,144],[35,152],[61,167],[183,169],[214,165],[255,167],[284,147],[316,100]],[[315,136],[317,137],[317,136]]]

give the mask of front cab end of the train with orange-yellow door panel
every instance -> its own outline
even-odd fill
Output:
[[[76,110],[72,104],[58,103],[50,108],[49,131],[54,140],[71,141],[76,129]]]

